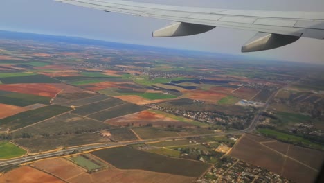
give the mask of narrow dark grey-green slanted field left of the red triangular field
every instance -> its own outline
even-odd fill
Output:
[[[83,105],[81,107],[77,107],[72,113],[82,115],[82,116],[87,116],[89,114],[100,112],[102,110],[106,110],[123,103],[126,102],[118,98],[108,98],[105,101],[100,101],[98,103],[91,103],[89,105]]]

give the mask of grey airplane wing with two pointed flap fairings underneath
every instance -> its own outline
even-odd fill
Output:
[[[217,26],[257,31],[242,46],[242,52],[275,49],[296,42],[300,37],[324,39],[324,12],[195,8],[123,0],[55,1],[172,21],[172,24],[154,31],[153,37],[195,35]]]

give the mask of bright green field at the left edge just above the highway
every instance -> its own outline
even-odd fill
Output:
[[[26,150],[19,148],[8,141],[0,141],[0,159],[20,157],[26,153]]]

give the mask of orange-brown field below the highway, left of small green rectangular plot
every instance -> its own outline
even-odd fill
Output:
[[[44,172],[60,177],[63,180],[68,180],[75,175],[85,173],[85,171],[79,166],[76,166],[75,164],[62,158],[46,159],[44,161],[35,162],[32,164],[32,166]]]

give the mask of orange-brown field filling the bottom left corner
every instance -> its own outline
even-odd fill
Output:
[[[12,182],[12,183],[37,183],[37,182],[48,182],[48,183],[64,183],[57,177],[36,170],[28,166],[22,166],[16,168],[4,175],[0,176],[0,182]]]

